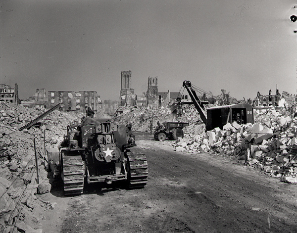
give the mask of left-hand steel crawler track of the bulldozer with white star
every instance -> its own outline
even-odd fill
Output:
[[[71,151],[62,151],[62,179],[64,195],[82,194],[84,192],[85,164],[81,155]]]

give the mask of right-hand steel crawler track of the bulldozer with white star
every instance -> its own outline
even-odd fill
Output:
[[[129,188],[141,188],[148,183],[148,161],[145,154],[127,152],[130,169],[128,173]]]

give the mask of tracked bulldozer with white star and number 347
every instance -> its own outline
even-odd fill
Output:
[[[82,194],[90,183],[142,188],[148,182],[148,162],[135,146],[135,137],[125,125],[106,119],[68,125],[59,148],[49,153],[49,167],[61,177],[65,195]]]

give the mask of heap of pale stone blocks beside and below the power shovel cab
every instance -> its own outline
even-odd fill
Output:
[[[217,152],[266,174],[297,182],[297,118],[285,110],[255,110],[255,123],[236,121],[200,135],[190,134],[173,145],[176,151]]]

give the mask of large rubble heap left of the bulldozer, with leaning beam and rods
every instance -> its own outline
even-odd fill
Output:
[[[0,103],[0,232],[42,232],[38,209],[52,209],[34,194],[50,191],[46,171],[46,148],[57,147],[63,140],[67,125],[77,117],[57,110],[49,113],[38,127],[18,131],[41,115],[37,111],[9,103]],[[44,140],[45,135],[45,140]],[[34,139],[38,156],[39,179],[36,173]],[[39,185],[38,181],[39,180]]]

